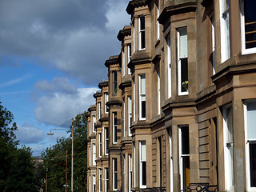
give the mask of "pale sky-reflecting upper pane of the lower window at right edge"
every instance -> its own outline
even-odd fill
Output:
[[[256,138],[256,102],[247,104],[248,138]]]

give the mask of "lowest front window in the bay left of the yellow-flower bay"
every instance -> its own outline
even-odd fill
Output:
[[[140,188],[146,188],[146,141],[139,142],[139,183]]]

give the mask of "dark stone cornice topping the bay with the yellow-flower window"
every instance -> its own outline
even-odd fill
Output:
[[[162,13],[158,18],[158,22],[160,22],[163,25],[166,22],[166,20],[170,18],[171,15],[195,12],[196,9],[197,9],[196,2],[186,2],[186,3],[174,5],[174,6],[167,6],[164,10],[162,10]]]

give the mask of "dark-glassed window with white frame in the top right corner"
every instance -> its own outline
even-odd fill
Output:
[[[256,52],[256,2],[254,0],[241,0],[242,21],[242,53]]]

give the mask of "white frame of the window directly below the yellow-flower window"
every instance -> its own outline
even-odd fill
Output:
[[[184,186],[184,181],[183,181],[183,158],[189,157],[190,158],[190,154],[182,154],[182,129],[184,129],[186,127],[186,129],[188,129],[188,131],[190,131],[190,127],[188,125],[186,126],[178,126],[178,137],[179,137],[179,173],[180,173],[180,184],[181,184],[181,189],[183,189]],[[190,147],[190,146],[189,146]]]

